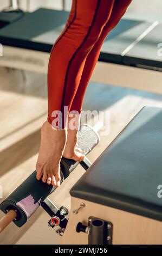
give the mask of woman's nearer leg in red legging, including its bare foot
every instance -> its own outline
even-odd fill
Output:
[[[60,184],[60,160],[66,144],[66,115],[59,130],[53,130],[55,111],[70,109],[80,83],[86,58],[109,20],[114,0],[73,0],[66,27],[55,42],[48,67],[48,122],[41,130],[41,146],[36,164],[37,179]],[[58,112],[57,112],[58,113]],[[61,130],[61,128],[63,128]],[[83,157],[76,157],[81,161]]]

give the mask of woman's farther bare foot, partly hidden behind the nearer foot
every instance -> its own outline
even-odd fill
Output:
[[[68,129],[67,142],[63,151],[63,157],[67,159],[73,159],[76,162],[81,162],[85,158],[85,155],[83,155],[81,153],[82,150],[77,147],[77,135],[78,130]]]

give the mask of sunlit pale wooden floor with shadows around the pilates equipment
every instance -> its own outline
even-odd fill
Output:
[[[47,118],[47,78],[4,68],[0,68],[0,77],[0,185],[6,198],[35,170],[40,127]],[[101,136],[88,156],[90,161],[94,162],[144,105],[162,106],[162,95],[90,82],[83,109],[109,110],[111,114],[111,132]],[[57,206],[70,208],[70,187],[83,173],[78,166],[50,199]],[[0,235],[0,244],[57,244],[60,237],[48,227],[48,221],[40,208],[22,228],[12,223]]]

